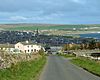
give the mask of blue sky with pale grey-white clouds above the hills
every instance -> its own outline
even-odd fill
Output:
[[[0,0],[0,24],[99,24],[100,0]]]

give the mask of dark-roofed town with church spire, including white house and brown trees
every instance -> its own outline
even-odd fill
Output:
[[[66,53],[66,51],[71,50],[74,50],[74,53],[75,50],[99,50],[100,39],[46,35],[40,34],[38,29],[34,32],[2,30],[0,31],[0,49],[9,53],[32,53],[41,49],[47,54],[58,53],[59,51]]]

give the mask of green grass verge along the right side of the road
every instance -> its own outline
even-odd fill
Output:
[[[76,58],[71,60],[72,63],[82,67],[83,69],[100,76],[100,63],[87,58]]]

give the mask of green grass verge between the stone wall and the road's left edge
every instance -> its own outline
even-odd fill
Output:
[[[12,65],[11,68],[0,70],[0,80],[36,80],[45,62],[46,58],[42,57]]]

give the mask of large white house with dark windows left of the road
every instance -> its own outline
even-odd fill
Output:
[[[33,42],[18,42],[15,44],[15,49],[20,50],[23,53],[35,53],[41,50],[42,46],[38,44],[34,44]]]

